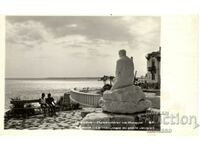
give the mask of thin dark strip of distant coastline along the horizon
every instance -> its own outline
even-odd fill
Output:
[[[5,80],[99,80],[101,77],[5,78]]]

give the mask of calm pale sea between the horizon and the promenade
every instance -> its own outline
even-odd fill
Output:
[[[5,108],[10,106],[10,98],[38,99],[41,93],[49,92],[57,100],[60,96],[73,88],[100,88],[102,81],[89,80],[6,80],[5,82]]]

